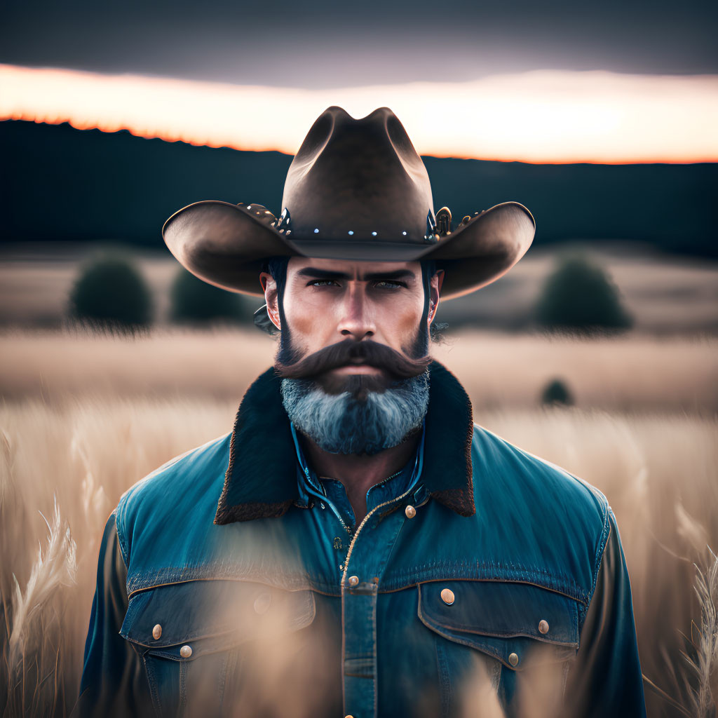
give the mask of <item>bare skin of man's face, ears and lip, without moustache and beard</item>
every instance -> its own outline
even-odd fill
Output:
[[[286,268],[284,322],[289,325],[292,348],[300,357],[345,339],[370,340],[412,356],[420,332],[426,332],[436,313],[443,272],[430,281],[429,312],[424,322],[421,264],[363,262],[292,257]],[[280,330],[276,284],[261,273],[267,311]],[[340,374],[378,374],[366,365],[332,370]]]

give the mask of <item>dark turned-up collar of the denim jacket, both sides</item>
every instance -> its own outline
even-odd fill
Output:
[[[471,401],[457,378],[439,362],[429,365],[429,376],[421,480],[439,503],[460,516],[473,516]],[[299,498],[297,453],[280,386],[281,378],[270,368],[242,399],[215,523],[282,516]]]

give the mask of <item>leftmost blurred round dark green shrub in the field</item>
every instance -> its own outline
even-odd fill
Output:
[[[91,259],[70,290],[70,316],[116,329],[146,327],[152,295],[133,262],[119,254]]]

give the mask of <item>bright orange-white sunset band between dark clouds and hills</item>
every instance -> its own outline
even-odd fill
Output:
[[[532,70],[465,83],[307,90],[0,65],[0,119],[294,154],[330,105],[389,106],[420,154],[716,162],[718,76]]]

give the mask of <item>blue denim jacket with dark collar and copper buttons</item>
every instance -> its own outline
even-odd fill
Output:
[[[128,490],[76,714],[645,715],[605,497],[474,424],[457,379],[430,373],[416,456],[358,526],[273,370],[232,432]]]

